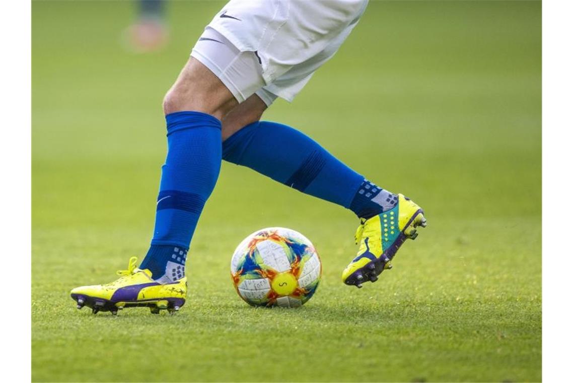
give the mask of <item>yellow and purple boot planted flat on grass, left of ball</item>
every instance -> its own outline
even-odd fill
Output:
[[[135,267],[137,257],[131,257],[127,270],[118,271],[121,277],[105,285],[76,287],[71,291],[77,308],[90,307],[92,313],[111,311],[113,315],[125,307],[149,307],[152,314],[168,310],[170,314],[185,304],[187,277],[168,284],[152,279],[152,273]]]

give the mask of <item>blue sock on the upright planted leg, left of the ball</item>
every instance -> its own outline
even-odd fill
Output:
[[[181,111],[165,116],[168,154],[161,169],[152,245],[139,266],[162,283],[184,275],[185,258],[205,201],[221,166],[221,122]]]

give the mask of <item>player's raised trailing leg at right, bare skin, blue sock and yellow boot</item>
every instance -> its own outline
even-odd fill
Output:
[[[272,101],[266,92],[258,95]],[[416,227],[426,226],[422,209],[371,183],[301,131],[259,121],[266,106],[261,99],[253,100],[251,108],[239,105],[223,120],[223,159],[355,212],[360,219],[355,234],[359,251],[342,278],[358,287],[376,281],[391,268],[390,260],[405,239],[416,238]]]

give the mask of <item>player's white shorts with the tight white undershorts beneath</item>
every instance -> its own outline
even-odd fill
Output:
[[[331,59],[368,0],[231,0],[205,27],[191,56],[238,102],[257,94],[268,106],[292,101]]]

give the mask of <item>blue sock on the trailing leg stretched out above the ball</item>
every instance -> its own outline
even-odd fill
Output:
[[[254,169],[305,194],[370,218],[397,203],[395,195],[370,183],[317,142],[292,127],[254,122],[223,142],[223,159]]]

